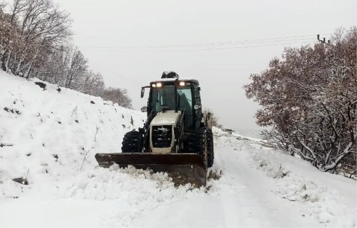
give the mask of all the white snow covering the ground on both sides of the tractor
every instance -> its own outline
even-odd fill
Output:
[[[97,167],[145,113],[34,81],[0,72],[1,228],[356,227],[356,181],[234,132],[213,129],[222,176],[206,187]]]

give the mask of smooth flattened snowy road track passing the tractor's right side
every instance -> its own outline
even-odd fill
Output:
[[[218,196],[197,197],[145,212],[135,227],[318,227],[294,205],[272,192],[276,187],[261,171],[248,165],[245,151],[216,139],[216,163],[236,192],[222,189]],[[306,206],[305,206],[306,207]],[[321,226],[322,227],[322,226]]]

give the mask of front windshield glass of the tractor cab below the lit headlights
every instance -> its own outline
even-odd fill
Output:
[[[180,100],[178,110],[186,109],[187,113],[192,112],[191,86],[177,87],[177,102]],[[174,85],[165,85],[160,88],[152,88],[151,108],[161,112],[161,105],[167,106],[169,110],[175,110],[175,89]]]

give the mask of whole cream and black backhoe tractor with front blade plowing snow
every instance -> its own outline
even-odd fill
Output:
[[[210,113],[203,118],[199,82],[170,71],[142,87],[141,98],[145,88],[150,92],[147,107],[141,108],[147,112],[144,126],[124,135],[121,153],[96,154],[99,166],[178,173],[205,186],[214,151],[212,118]]]

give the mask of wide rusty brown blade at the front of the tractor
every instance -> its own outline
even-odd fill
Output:
[[[154,172],[178,172],[193,178],[197,185],[206,185],[207,168],[203,157],[198,154],[113,153],[96,154],[95,159],[104,168],[118,164],[123,168],[132,165],[137,169],[149,168]]]

